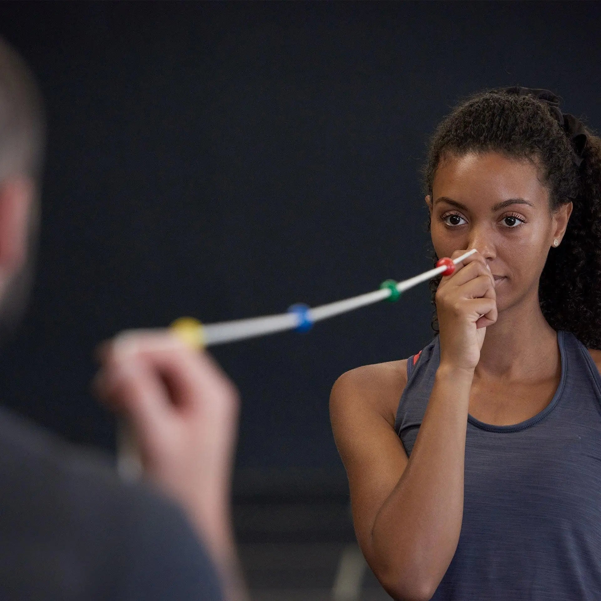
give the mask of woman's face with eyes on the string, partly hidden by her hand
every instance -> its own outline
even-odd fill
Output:
[[[498,310],[538,290],[553,240],[560,242],[572,203],[549,214],[549,193],[529,160],[502,154],[448,154],[438,165],[432,198],[432,243],[438,257],[475,248],[496,281]]]

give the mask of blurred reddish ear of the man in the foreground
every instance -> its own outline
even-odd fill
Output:
[[[35,194],[26,177],[9,177],[0,183],[0,274],[8,278],[25,263],[29,213]]]

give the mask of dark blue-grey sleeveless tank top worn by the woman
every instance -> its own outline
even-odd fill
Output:
[[[513,426],[468,416],[459,544],[433,600],[601,599],[601,376],[575,335],[557,340],[561,381],[542,412]],[[439,363],[438,336],[407,361],[407,456]]]

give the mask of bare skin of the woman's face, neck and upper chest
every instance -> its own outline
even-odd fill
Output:
[[[554,250],[553,240],[561,244],[572,203],[551,215],[549,192],[538,179],[537,166],[498,153],[444,157],[432,192],[426,203],[438,256],[475,248],[493,275],[505,276],[495,285],[498,317],[486,328],[469,412],[486,423],[519,423],[551,401],[561,377],[557,333],[540,310],[538,281]],[[492,211],[494,204],[508,199],[532,206],[512,204]],[[452,214],[457,218],[450,218]],[[599,353],[593,354],[599,360]],[[508,386],[516,391],[511,401],[505,394]]]

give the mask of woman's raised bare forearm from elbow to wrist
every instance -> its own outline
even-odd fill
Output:
[[[409,463],[371,531],[377,575],[399,599],[428,599],[457,548],[473,371],[441,365]]]

